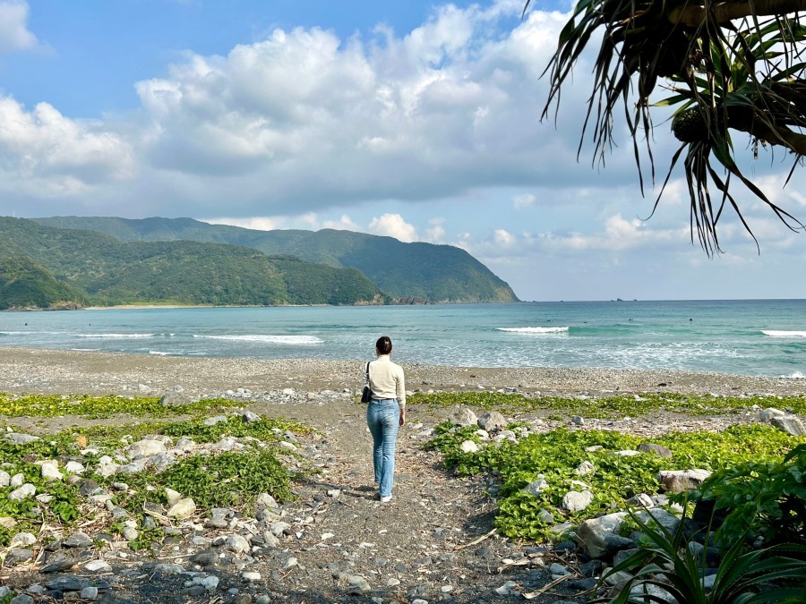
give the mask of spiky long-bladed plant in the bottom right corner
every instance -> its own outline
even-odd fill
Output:
[[[610,568],[600,586],[617,573],[629,573],[630,579],[614,597],[594,603],[648,604],[649,602],[685,602],[686,604],[767,604],[767,602],[806,601],[806,547],[780,544],[765,549],[750,549],[744,538],[731,542],[723,550],[713,583],[706,587],[707,550],[690,548],[686,526],[675,532],[660,523],[643,523],[631,515],[643,536],[638,550]]]

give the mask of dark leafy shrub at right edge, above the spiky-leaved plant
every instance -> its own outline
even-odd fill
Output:
[[[716,532],[720,542],[747,536],[806,545],[806,445],[783,460],[754,459],[714,472],[690,500],[725,514]]]

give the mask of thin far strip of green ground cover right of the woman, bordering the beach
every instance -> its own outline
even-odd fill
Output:
[[[502,392],[440,392],[415,393],[411,404],[433,407],[450,407],[464,404],[475,409],[496,410],[502,413],[528,413],[562,411],[591,419],[636,417],[647,413],[667,412],[687,415],[710,413],[741,413],[753,405],[762,409],[777,407],[791,409],[793,413],[806,413],[806,396],[712,396],[681,395],[675,393],[618,395],[596,397],[525,396]],[[560,418],[560,415],[557,415]]]

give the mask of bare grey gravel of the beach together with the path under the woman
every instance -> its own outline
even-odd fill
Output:
[[[197,532],[193,535],[196,541],[185,535],[168,540],[150,554],[128,552],[126,557],[115,558],[112,570],[105,575],[74,567],[73,574],[101,584],[99,601],[514,602],[519,601],[519,592],[539,591],[552,582],[547,567],[553,562],[578,567],[579,561],[572,554],[545,551],[536,544],[493,534],[493,503],[485,495],[491,485],[484,479],[450,476],[442,469],[438,455],[422,449],[429,429],[450,409],[416,405],[410,409],[409,424],[399,437],[394,498],[389,505],[381,505],[370,487],[371,438],[365,427],[364,407],[355,404],[352,396],[360,386],[361,368],[360,360],[186,359],[0,348],[0,392],[159,396],[181,389],[188,397],[240,396],[244,408],[253,413],[304,421],[319,430],[304,447],[316,453],[315,466],[320,473],[296,484],[298,500],[282,511],[289,530],[282,534],[278,548],[262,557],[214,556],[209,564],[203,564],[197,557],[203,548],[194,543],[199,542],[196,538],[214,538],[215,532]],[[516,388],[544,395],[657,391],[806,394],[806,380],[707,373],[404,368],[408,390]],[[289,389],[293,389],[293,396],[280,394]],[[10,422],[25,430],[47,431],[81,421],[67,417]],[[639,418],[591,421],[589,425],[652,433],[668,430],[667,421],[673,421],[675,428],[718,429],[737,418]],[[87,556],[97,553],[88,550]],[[47,581],[39,570],[38,566],[3,568],[0,582],[24,589]],[[245,573],[253,574],[246,579]],[[198,585],[188,587],[195,576],[217,577],[218,588],[205,591]],[[508,590],[513,595],[501,595]],[[574,593],[561,583],[536,595],[534,601],[586,601]],[[38,600],[36,594],[33,597],[33,601],[52,601]]]

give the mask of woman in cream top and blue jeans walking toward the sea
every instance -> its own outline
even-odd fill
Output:
[[[373,435],[373,468],[381,503],[391,500],[395,478],[395,442],[398,429],[406,424],[406,379],[403,368],[391,362],[391,340],[381,336],[375,343],[378,357],[368,363],[372,398],[366,408],[366,424]]]

